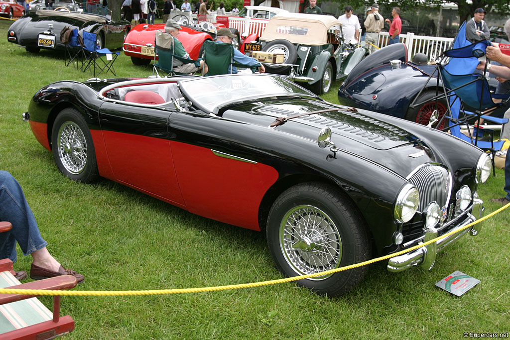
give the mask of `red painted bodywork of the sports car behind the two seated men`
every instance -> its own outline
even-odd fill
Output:
[[[145,28],[146,27],[146,28]],[[224,27],[222,24],[216,24],[217,28]],[[141,54],[141,46],[152,44],[156,40],[156,31],[165,30],[163,23],[154,25],[138,24],[136,25],[125,37],[122,50],[126,56],[135,58],[152,59],[150,56]],[[209,33],[196,31],[192,28],[182,26],[179,34],[179,41],[183,44],[186,51],[188,51],[191,59],[198,59],[200,54],[200,47],[206,40],[212,40],[213,37]]]

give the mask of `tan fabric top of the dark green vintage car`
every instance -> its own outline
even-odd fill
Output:
[[[264,41],[286,39],[293,44],[324,45],[327,43],[328,29],[341,24],[332,15],[277,14],[269,19],[260,39]]]

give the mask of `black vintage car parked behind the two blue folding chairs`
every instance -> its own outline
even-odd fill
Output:
[[[122,47],[131,23],[114,22],[97,14],[37,10],[16,20],[7,32],[7,40],[24,46],[28,52],[38,52],[41,48],[64,49],[60,33],[66,27],[94,33],[100,48],[116,49]]]

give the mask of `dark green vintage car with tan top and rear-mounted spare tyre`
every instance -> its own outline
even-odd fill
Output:
[[[284,54],[283,64],[264,64],[266,72],[288,75],[322,94],[368,55],[366,48],[344,41],[341,30],[340,21],[331,15],[277,14],[269,19],[259,44],[248,44],[244,51],[251,47]]]

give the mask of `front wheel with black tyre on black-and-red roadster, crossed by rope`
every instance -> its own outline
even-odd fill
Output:
[[[310,182],[284,191],[269,212],[267,242],[276,267],[288,277],[315,274],[370,258],[365,223],[336,188]],[[297,281],[314,292],[338,296],[358,284],[367,267]]]

